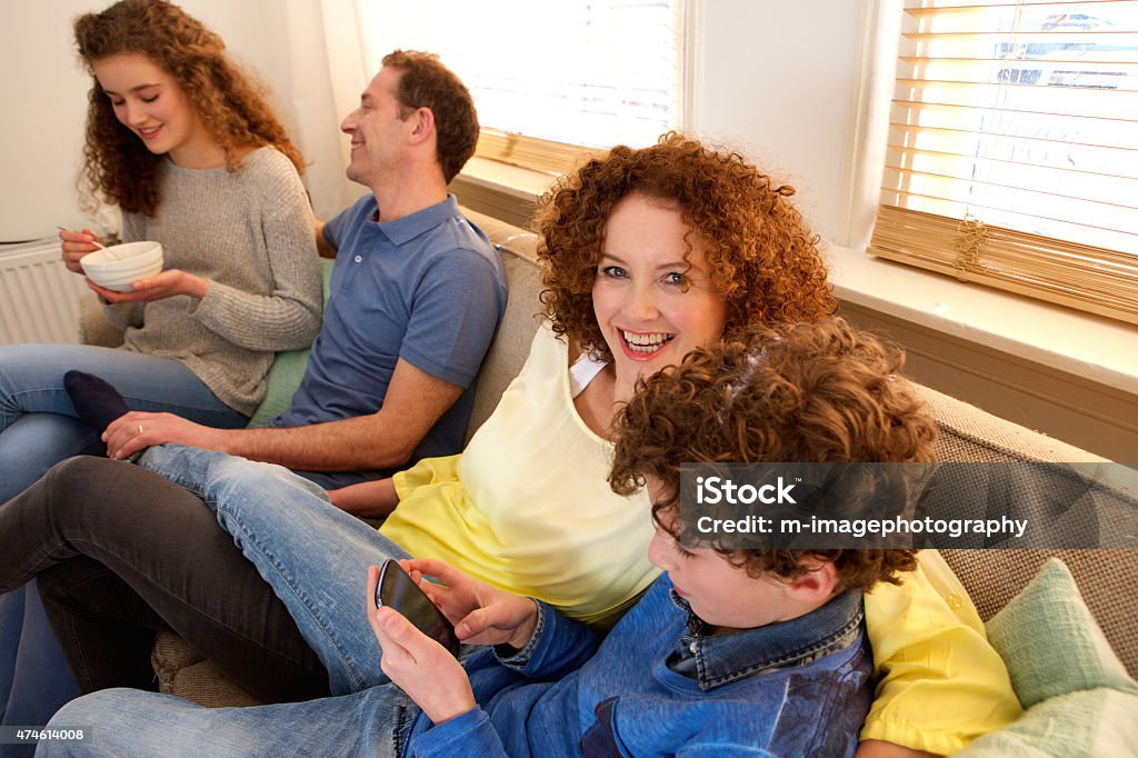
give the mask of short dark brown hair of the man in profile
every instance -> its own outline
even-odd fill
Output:
[[[395,99],[406,120],[417,108],[435,115],[435,155],[447,183],[459,175],[478,146],[478,112],[470,90],[434,52],[394,50],[384,66],[402,72]]]

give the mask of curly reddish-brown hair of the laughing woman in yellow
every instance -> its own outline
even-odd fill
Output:
[[[726,337],[750,323],[817,321],[836,310],[818,238],[787,200],[794,188],[737,153],[669,132],[652,147],[618,146],[588,160],[538,201],[545,315],[582,349],[612,357],[593,313],[592,288],[609,214],[633,192],[678,204],[702,238],[711,283],[727,303]],[[691,255],[691,240],[685,242]]]

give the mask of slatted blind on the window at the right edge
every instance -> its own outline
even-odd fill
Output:
[[[904,14],[869,252],[1138,323],[1138,1]]]

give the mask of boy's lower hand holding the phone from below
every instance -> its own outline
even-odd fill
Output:
[[[384,649],[380,667],[435,724],[473,709],[475,693],[462,665],[443,645],[390,608],[376,608],[379,569],[368,568],[368,621]]]

